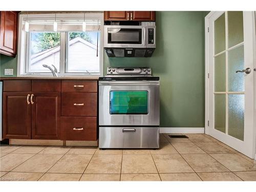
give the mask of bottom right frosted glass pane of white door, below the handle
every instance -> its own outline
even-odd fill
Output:
[[[228,135],[244,140],[244,94],[228,95]]]

